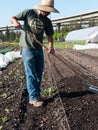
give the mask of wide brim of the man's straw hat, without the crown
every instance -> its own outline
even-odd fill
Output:
[[[55,9],[53,7],[46,6],[46,5],[36,5],[34,8],[42,10],[42,11],[46,11],[46,12],[59,13],[59,11],[57,9]]]

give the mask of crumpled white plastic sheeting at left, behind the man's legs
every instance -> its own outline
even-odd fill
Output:
[[[0,68],[6,68],[10,62],[21,57],[20,52],[7,52],[5,55],[0,53]]]

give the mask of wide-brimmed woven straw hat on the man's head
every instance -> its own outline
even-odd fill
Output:
[[[54,8],[54,0],[42,0],[41,4],[35,6],[35,9],[59,13],[59,11]]]

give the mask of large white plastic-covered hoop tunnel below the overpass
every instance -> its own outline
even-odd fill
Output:
[[[75,30],[68,33],[65,41],[98,40],[98,26]]]

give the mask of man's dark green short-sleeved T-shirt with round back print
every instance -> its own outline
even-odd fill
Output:
[[[17,20],[24,21],[24,29],[33,33],[38,41],[42,43],[43,34],[52,36],[54,34],[51,20],[46,16],[41,16],[35,9],[27,9],[16,15]],[[42,49],[42,47],[36,43],[33,38],[25,33],[21,32],[20,46],[25,48]]]

